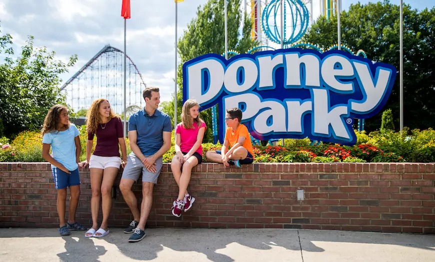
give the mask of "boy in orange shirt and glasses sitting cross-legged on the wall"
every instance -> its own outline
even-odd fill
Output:
[[[241,167],[241,164],[252,163],[252,142],[246,126],[240,123],[241,117],[241,110],[237,107],[226,110],[225,140],[221,150],[211,150],[205,153],[209,161],[223,163],[224,166],[235,164],[237,167]]]

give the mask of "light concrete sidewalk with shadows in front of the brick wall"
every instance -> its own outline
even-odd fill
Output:
[[[55,228],[0,228],[0,261],[435,261],[435,235],[301,229],[111,228],[104,238]]]

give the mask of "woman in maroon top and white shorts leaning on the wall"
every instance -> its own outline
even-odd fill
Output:
[[[108,234],[107,219],[110,213],[112,198],[110,195],[113,181],[119,166],[124,167],[127,162],[127,152],[121,119],[114,114],[106,99],[93,101],[86,115],[86,160],[79,163],[80,167],[89,164],[90,211],[92,213],[92,227],[84,234],[85,237],[102,237]],[[92,151],[93,136],[96,135],[95,150]],[[122,160],[119,154],[122,152]],[[98,229],[99,200],[102,196],[102,222]]]

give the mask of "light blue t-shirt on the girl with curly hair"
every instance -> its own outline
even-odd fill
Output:
[[[63,164],[68,170],[72,171],[78,168],[75,161],[75,136],[79,135],[79,131],[74,124],[70,124],[69,128],[64,131],[52,131],[44,133],[42,143],[51,144],[51,156],[54,160]],[[51,165],[51,168],[54,168]]]

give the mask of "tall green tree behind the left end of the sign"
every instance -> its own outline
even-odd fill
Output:
[[[201,8],[198,7],[196,17],[193,18],[178,40],[178,53],[181,64],[177,68],[177,119],[182,107],[182,64],[194,57],[206,53],[225,52],[223,0],[209,0]],[[242,22],[243,20],[243,22]],[[241,30],[240,24],[243,24]],[[250,38],[251,21],[240,11],[240,0],[228,0],[227,3],[227,32],[228,50],[245,53],[257,45]],[[162,110],[173,119],[173,99],[162,103]],[[206,129],[204,142],[212,142],[211,109],[201,111],[201,118],[209,128]]]

